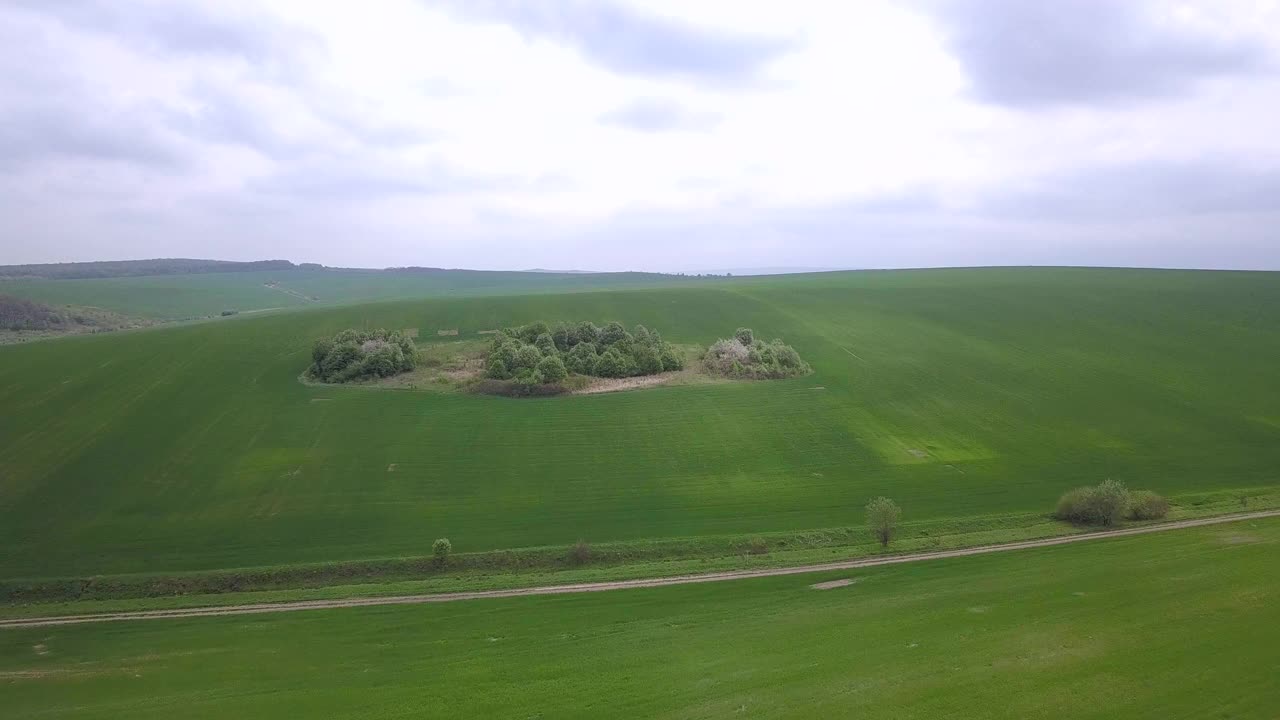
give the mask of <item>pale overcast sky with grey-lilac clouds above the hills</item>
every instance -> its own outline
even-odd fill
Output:
[[[0,0],[0,264],[1280,269],[1280,0]]]

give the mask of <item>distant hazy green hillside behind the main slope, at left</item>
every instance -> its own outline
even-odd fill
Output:
[[[340,270],[291,268],[147,277],[0,278],[0,295],[54,305],[88,305],[125,315],[182,320],[223,310],[266,310],[434,297],[570,292],[614,287],[690,284],[654,273],[508,273],[480,270]]]

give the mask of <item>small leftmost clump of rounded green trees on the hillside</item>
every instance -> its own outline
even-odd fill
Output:
[[[413,340],[399,331],[346,329],[317,340],[308,374],[326,383],[387,378],[417,365]]]

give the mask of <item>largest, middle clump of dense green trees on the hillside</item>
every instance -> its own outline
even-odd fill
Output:
[[[516,386],[556,384],[570,374],[596,378],[654,375],[685,366],[684,357],[657,331],[621,323],[530,323],[506,328],[493,340],[485,377]]]

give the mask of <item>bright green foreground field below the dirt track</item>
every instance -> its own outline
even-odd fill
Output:
[[[1280,520],[584,596],[0,632],[20,717],[1274,717]],[[854,584],[828,591],[810,583]]]

